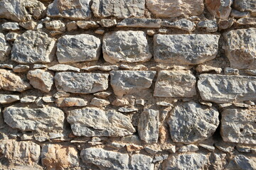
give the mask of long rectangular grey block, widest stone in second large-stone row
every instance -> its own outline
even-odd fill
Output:
[[[173,64],[200,64],[218,53],[219,35],[154,35],[154,60]]]

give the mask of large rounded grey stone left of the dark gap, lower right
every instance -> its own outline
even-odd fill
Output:
[[[218,111],[199,103],[182,103],[171,111],[169,127],[171,139],[185,144],[205,140],[218,127]]]

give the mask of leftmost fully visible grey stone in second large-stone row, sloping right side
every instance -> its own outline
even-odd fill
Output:
[[[27,30],[19,36],[11,50],[11,60],[19,63],[51,62],[55,40],[41,31]]]

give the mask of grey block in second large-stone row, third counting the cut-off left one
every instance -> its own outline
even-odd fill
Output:
[[[60,63],[87,62],[98,60],[100,50],[100,38],[93,35],[64,35],[58,39],[56,55]]]

